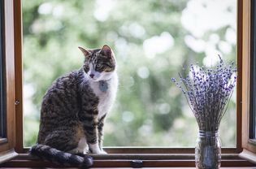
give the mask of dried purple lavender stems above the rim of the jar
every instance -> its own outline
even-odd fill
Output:
[[[206,69],[190,65],[189,75],[180,80],[172,78],[184,93],[200,130],[217,131],[220,120],[227,111],[228,102],[236,85],[234,63],[223,63],[219,56],[216,67]]]

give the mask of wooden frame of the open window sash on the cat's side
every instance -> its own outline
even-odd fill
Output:
[[[5,57],[6,89],[6,138],[0,139],[0,163],[14,158],[15,152],[15,53],[14,53],[14,11],[13,1],[3,2],[3,57]]]

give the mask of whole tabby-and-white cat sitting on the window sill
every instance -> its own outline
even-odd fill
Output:
[[[54,163],[89,167],[102,150],[103,125],[118,87],[115,54],[108,45],[85,50],[84,65],[59,77],[41,104],[37,144],[30,150]]]

